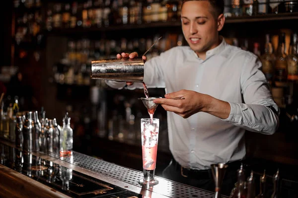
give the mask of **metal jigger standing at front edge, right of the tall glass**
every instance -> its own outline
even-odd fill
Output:
[[[228,165],[226,164],[211,164],[212,176],[215,184],[214,198],[221,198],[221,186],[224,180],[224,174]]]

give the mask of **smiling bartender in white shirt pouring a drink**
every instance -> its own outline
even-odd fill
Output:
[[[228,164],[223,194],[229,195],[245,159],[245,131],[273,134],[280,110],[251,52],[227,44],[223,0],[184,0],[182,30],[189,46],[174,47],[145,63],[148,87],[164,86],[169,148],[173,159],[163,177],[214,191],[210,166]],[[136,52],[117,58],[135,58]],[[146,57],[143,57],[146,59]],[[142,83],[106,81],[113,88],[143,88]],[[167,99],[183,97],[184,100]]]

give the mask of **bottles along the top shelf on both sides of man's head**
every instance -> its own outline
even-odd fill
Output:
[[[46,26],[52,28],[107,27],[180,20],[182,0],[85,0],[55,3],[48,9]],[[225,0],[226,17],[297,12],[297,0]]]

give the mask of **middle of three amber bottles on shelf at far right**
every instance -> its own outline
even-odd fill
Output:
[[[277,87],[285,87],[287,84],[287,55],[285,54],[285,33],[279,35],[279,45],[277,48],[275,62],[275,85]]]

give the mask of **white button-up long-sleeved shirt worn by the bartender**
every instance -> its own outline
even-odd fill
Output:
[[[228,45],[224,39],[207,51],[205,60],[190,47],[180,46],[145,63],[144,82],[148,88],[164,87],[166,93],[187,89],[230,104],[227,119],[204,112],[184,119],[167,112],[169,148],[181,166],[203,170],[213,163],[241,160],[246,153],[245,130],[264,134],[276,131],[280,110],[261,66],[257,56]],[[126,84],[106,83],[118,89]],[[143,85],[134,83],[128,88]]]

